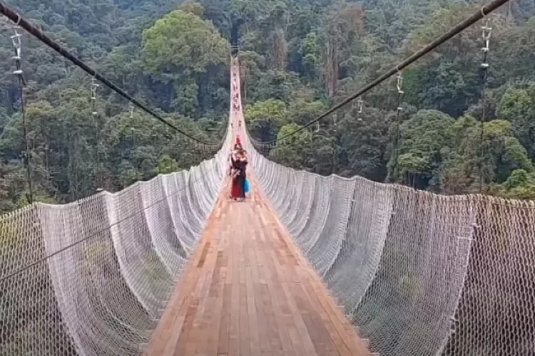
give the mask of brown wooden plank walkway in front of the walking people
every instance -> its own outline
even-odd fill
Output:
[[[250,185],[218,200],[146,355],[370,355]]]

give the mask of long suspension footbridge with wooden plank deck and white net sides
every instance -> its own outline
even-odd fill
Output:
[[[0,355],[535,355],[533,201],[270,162],[238,57],[213,158],[0,217]],[[238,136],[244,202],[228,199]]]

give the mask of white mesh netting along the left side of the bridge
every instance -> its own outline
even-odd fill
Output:
[[[1,216],[0,355],[139,355],[222,188],[229,140],[189,170]]]

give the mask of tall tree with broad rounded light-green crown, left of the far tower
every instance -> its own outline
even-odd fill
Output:
[[[167,89],[168,107],[186,115],[195,113],[198,107],[198,79],[213,66],[226,66],[230,54],[228,41],[195,12],[200,12],[200,7],[190,4],[143,32],[146,73],[158,78]]]

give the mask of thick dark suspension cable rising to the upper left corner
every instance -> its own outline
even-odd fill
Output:
[[[76,66],[84,70],[86,73],[91,75],[92,77],[100,80],[102,83],[104,83],[108,88],[113,90],[114,92],[121,95],[123,98],[128,100],[129,102],[136,105],[141,110],[147,112],[149,115],[155,117],[157,120],[160,120],[168,127],[172,128],[176,132],[180,133],[180,135],[184,135],[185,137],[190,138],[191,140],[198,142],[203,145],[213,145],[217,146],[219,143],[215,142],[204,142],[203,140],[199,140],[198,138],[194,137],[193,135],[188,134],[188,132],[185,132],[183,130],[180,130],[178,127],[173,125],[172,123],[168,122],[168,120],[165,120],[161,115],[158,115],[157,112],[152,110],[151,108],[148,108],[143,103],[139,102],[135,98],[132,98],[131,95],[128,95],[124,90],[119,88],[117,85],[113,84],[110,80],[106,79],[102,75],[98,74],[96,70],[86,65],[86,63],[83,63],[80,58],[77,58],[76,56],[73,56],[71,53],[69,53],[65,48],[61,47],[56,41],[54,41],[49,36],[46,36],[39,28],[36,28],[33,24],[31,24],[30,21],[24,19],[24,17],[20,16],[16,11],[6,6],[2,1],[0,1],[0,12],[1,14],[4,14],[8,19],[14,22],[16,26],[20,26],[24,28],[26,31],[28,31],[32,36],[39,39],[39,41],[45,43],[47,46],[54,49],[54,51],[61,54],[61,56],[67,58],[69,61],[74,63]]]

